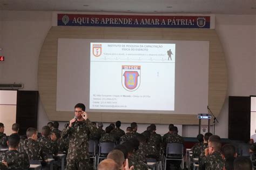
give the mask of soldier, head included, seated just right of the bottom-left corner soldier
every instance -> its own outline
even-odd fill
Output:
[[[28,139],[25,139],[20,142],[18,151],[26,153],[29,157],[29,160],[43,160],[48,159],[47,155],[43,153],[41,146],[37,141],[37,130],[35,128],[29,127],[26,130],[26,136]]]

